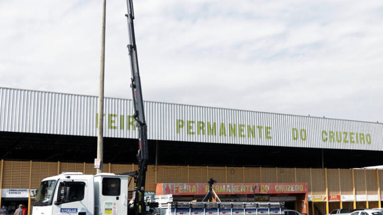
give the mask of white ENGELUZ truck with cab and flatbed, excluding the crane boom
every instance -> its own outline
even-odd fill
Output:
[[[32,215],[130,215],[130,176],[64,172],[43,179]],[[284,215],[283,203],[173,202],[167,196],[145,198],[145,214],[158,215]]]

